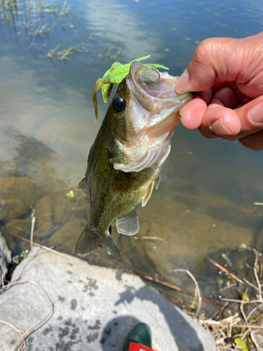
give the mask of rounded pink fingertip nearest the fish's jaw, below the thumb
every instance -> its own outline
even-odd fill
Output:
[[[205,101],[196,96],[194,100],[191,100],[187,105],[184,105],[179,112],[182,125],[188,129],[199,128],[206,107],[207,105]]]

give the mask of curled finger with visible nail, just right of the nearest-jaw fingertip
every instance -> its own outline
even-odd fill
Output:
[[[238,114],[220,100],[212,100],[203,114],[199,131],[205,138],[218,138],[237,135],[241,130]]]

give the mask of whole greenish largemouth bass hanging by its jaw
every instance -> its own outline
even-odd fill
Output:
[[[79,183],[90,210],[88,224],[76,243],[76,256],[102,247],[120,258],[111,236],[115,219],[119,233],[138,232],[135,206],[145,206],[154,187],[158,189],[179,111],[193,98],[192,93],[175,94],[177,79],[134,61],[117,86]]]

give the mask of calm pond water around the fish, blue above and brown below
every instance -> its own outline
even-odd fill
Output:
[[[47,245],[67,240],[59,248],[73,253],[88,209],[77,185],[107,110],[98,93],[95,124],[92,89],[112,62],[151,55],[148,62],[180,75],[203,39],[260,32],[262,11],[261,1],[239,0],[1,5],[0,192],[5,208],[0,224],[13,254],[28,247],[13,234],[29,238],[30,206],[36,209],[35,239]],[[224,265],[221,253],[241,242],[261,249],[263,209],[253,202],[263,199],[262,170],[262,152],[238,142],[207,140],[179,126],[159,190],[146,207],[137,206],[137,237],[165,241],[125,237],[113,225],[121,260],[102,250],[89,259],[133,267],[174,284],[177,279],[168,274],[173,268],[189,269],[204,282],[216,279],[218,270],[211,269],[206,256]],[[69,190],[75,197],[67,197]],[[177,303],[173,293],[163,293]]]

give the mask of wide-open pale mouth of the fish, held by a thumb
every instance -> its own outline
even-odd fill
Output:
[[[168,72],[157,72],[135,61],[130,65],[128,86],[137,102],[148,112],[174,107],[175,113],[193,98],[191,93],[175,93],[175,82],[178,78],[170,76]]]

